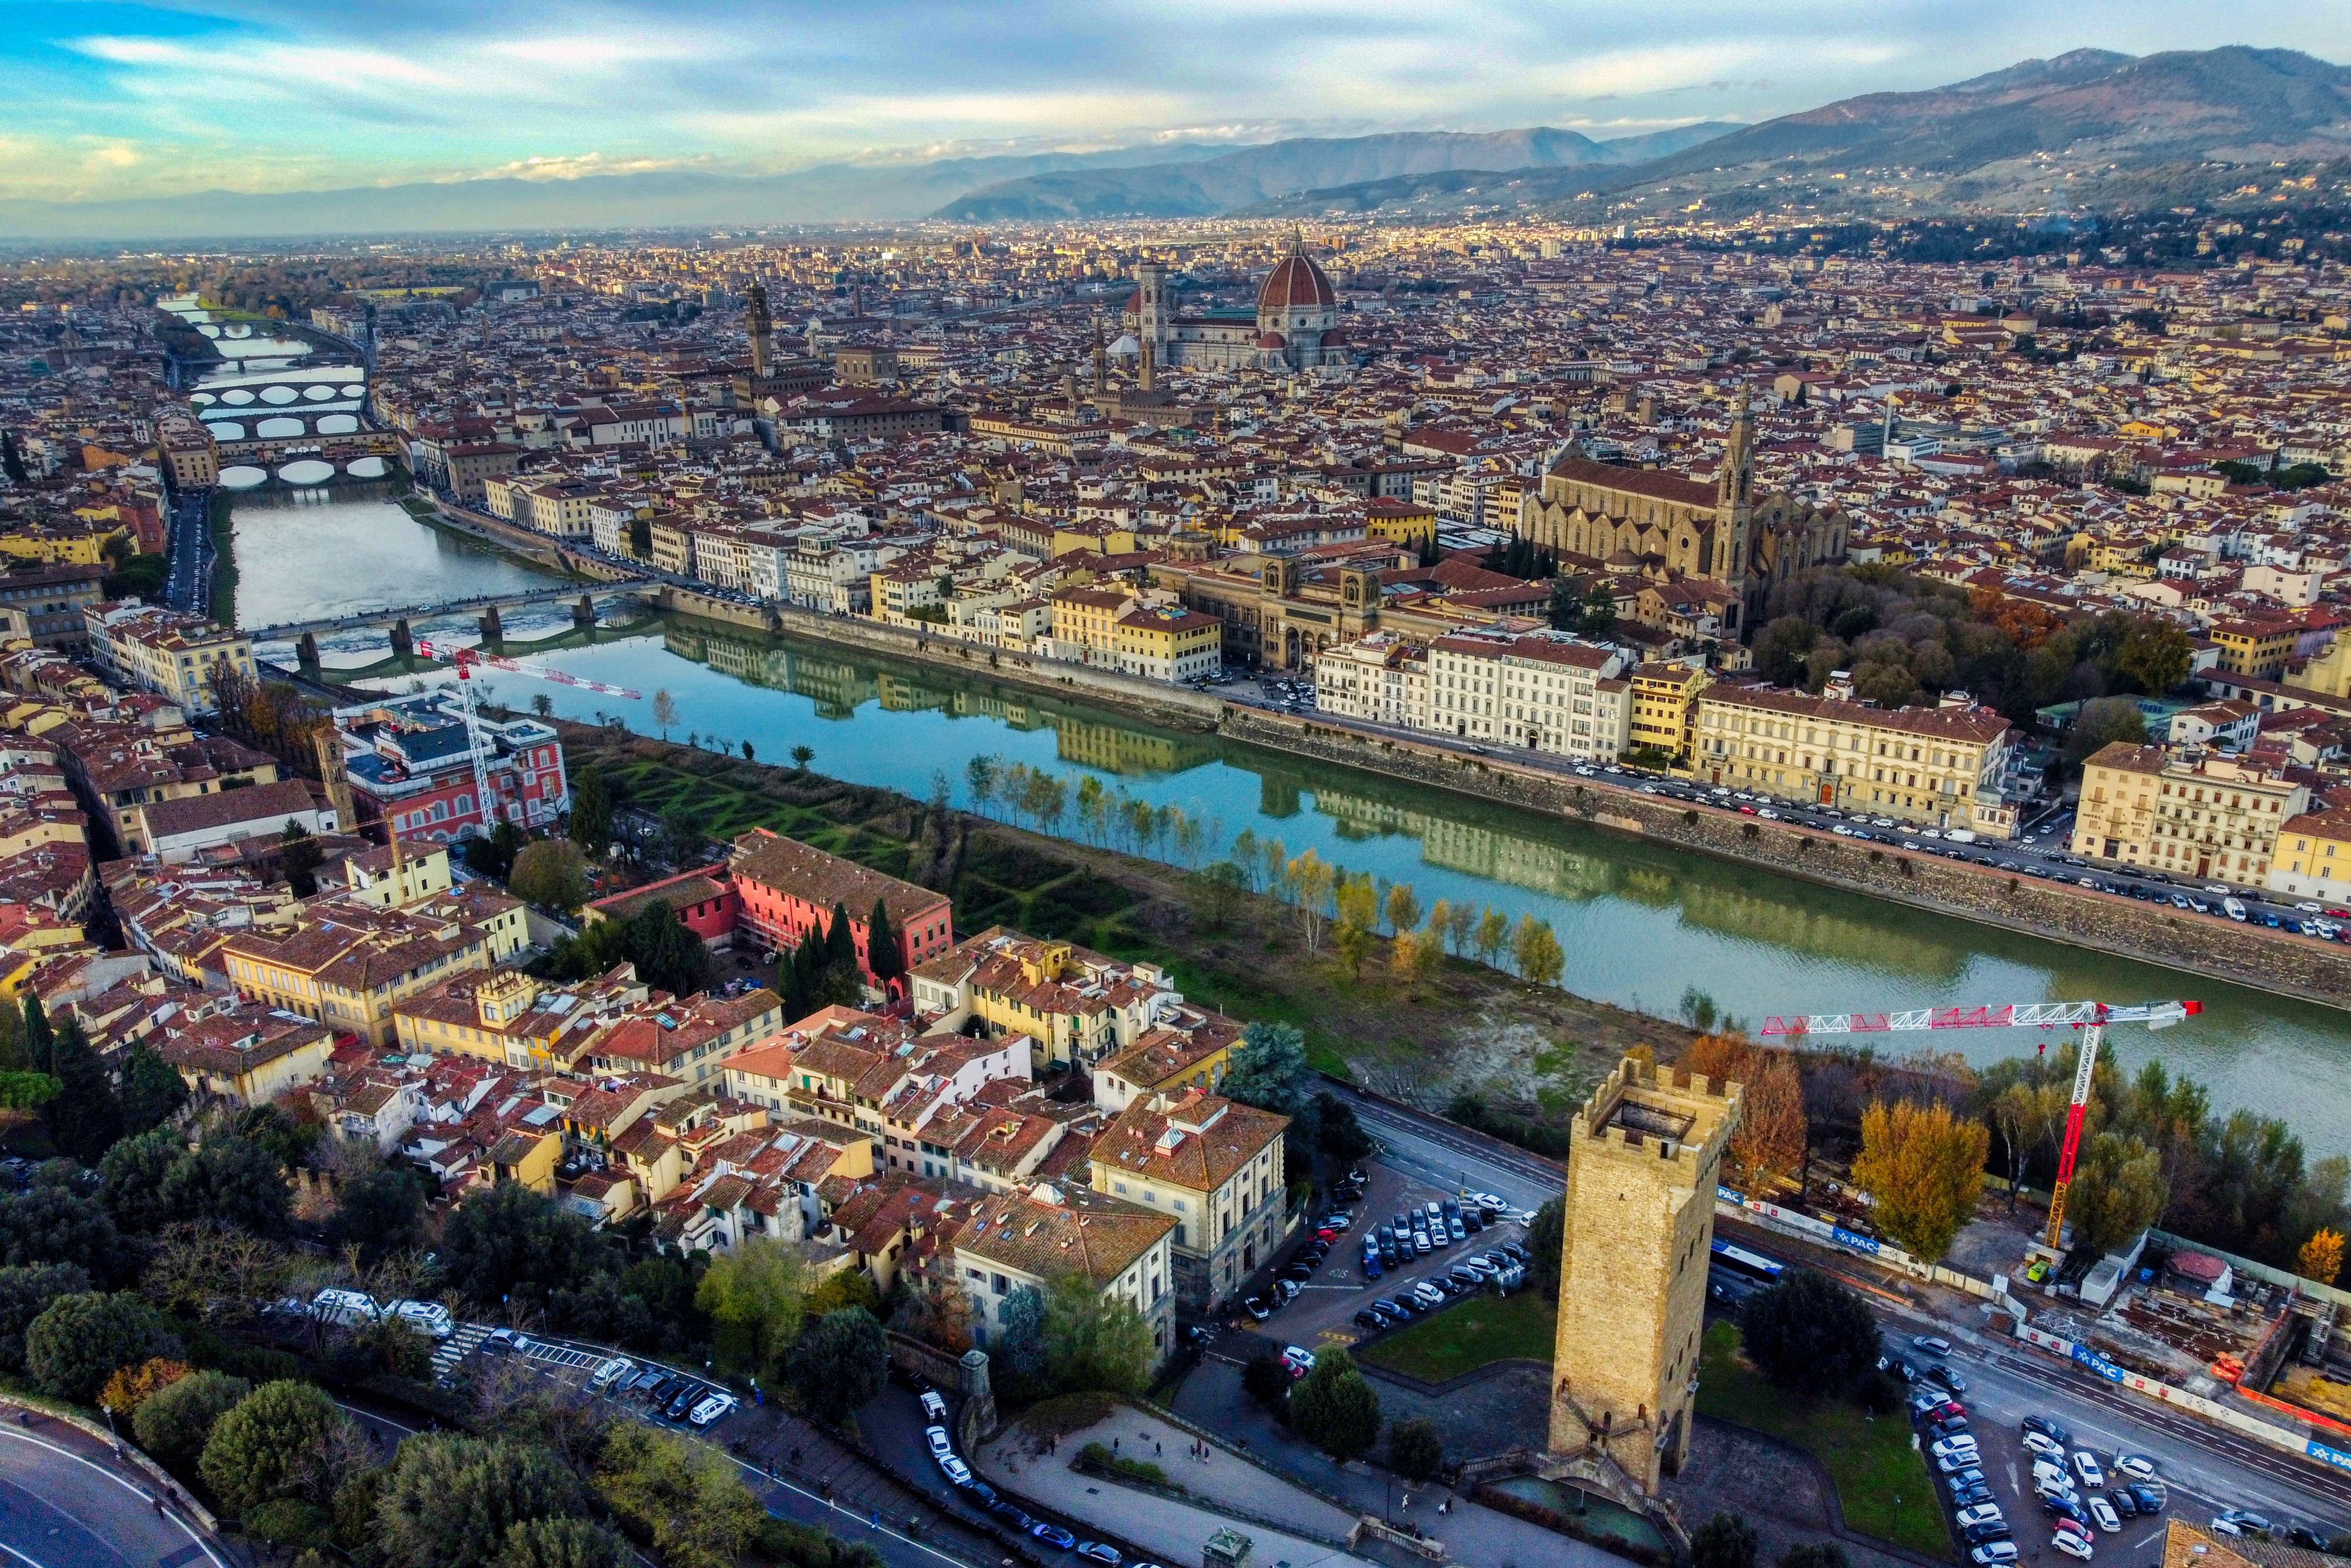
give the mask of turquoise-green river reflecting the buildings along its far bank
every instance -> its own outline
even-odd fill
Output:
[[[235,559],[237,618],[247,625],[543,581],[376,498],[240,501]],[[508,654],[529,661],[515,644],[564,628],[569,611],[560,604],[517,611],[505,618]],[[470,621],[461,630],[470,642]],[[259,654],[292,663],[289,649]],[[329,670],[383,656],[383,632],[355,632],[324,649]],[[543,663],[632,686],[642,698],[494,675],[498,701],[522,705],[545,691],[564,717],[618,715],[658,733],[651,696],[668,691],[679,741],[750,741],[776,762],[809,745],[823,773],[915,797],[945,771],[957,802],[969,804],[964,766],[978,755],[1053,769],[1072,788],[1096,773],[1107,788],[1213,820],[1218,849],[1248,827],[1291,853],[1314,849],[1347,870],[1411,882],[1425,905],[1448,898],[1491,903],[1512,917],[1528,910],[1559,931],[1566,990],[1655,1013],[1672,1013],[1688,985],[1751,1023],[1768,1013],[1961,1001],[2198,997],[2205,1016],[2189,1025],[2109,1034],[2123,1067],[2161,1056],[2208,1081],[2217,1107],[2285,1117],[2313,1154],[2351,1150],[2351,1013],[820,644],[672,621],[635,635],[602,632],[592,646],[564,646]],[[1991,1060],[2031,1051],[2036,1039],[1989,1030],[1878,1044],[1933,1044]]]

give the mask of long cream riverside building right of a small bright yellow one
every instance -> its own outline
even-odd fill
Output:
[[[1697,698],[1693,773],[1806,806],[1921,827],[2015,837],[2005,778],[2017,731],[1968,693],[1937,708],[1871,708],[1843,677],[1822,696],[1780,686],[1709,686]]]

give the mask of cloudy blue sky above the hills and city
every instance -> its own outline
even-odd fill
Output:
[[[2076,47],[2351,59],[2278,0],[0,0],[0,197],[1761,120]]]

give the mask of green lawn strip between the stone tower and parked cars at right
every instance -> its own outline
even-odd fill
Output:
[[[1871,1420],[1850,1403],[1806,1408],[1763,1382],[1737,1349],[1735,1324],[1707,1328],[1697,1361],[1700,1415],[1810,1450],[1829,1469],[1850,1528],[1933,1556],[1951,1554],[1935,1476],[1925,1455],[1909,1446],[1911,1432],[1900,1415]]]

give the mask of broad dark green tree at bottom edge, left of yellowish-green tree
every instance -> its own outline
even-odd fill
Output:
[[[393,1458],[376,1547],[386,1568],[487,1568],[517,1523],[581,1512],[578,1481],[545,1448],[430,1432]]]

